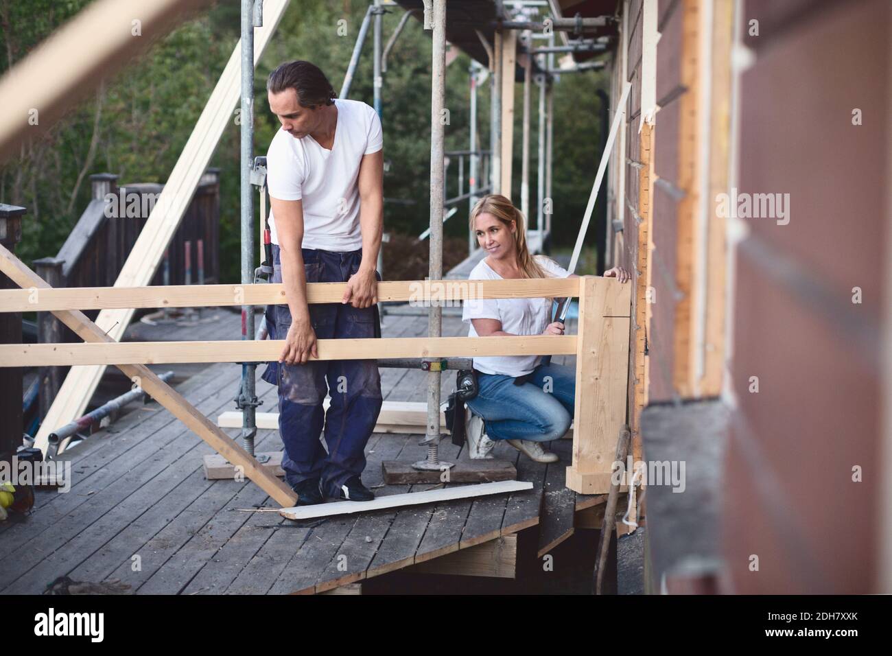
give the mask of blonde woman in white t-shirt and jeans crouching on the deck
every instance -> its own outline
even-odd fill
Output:
[[[468,278],[578,278],[544,255],[531,255],[526,245],[524,215],[503,195],[483,196],[471,211],[470,226],[486,257]],[[626,282],[620,267],[606,277]],[[462,320],[468,336],[563,335],[564,324],[552,321],[552,299],[475,299],[465,303]],[[474,359],[479,392],[467,401],[467,444],[471,458],[491,458],[495,440],[537,462],[558,461],[541,443],[566,434],[573,420],[575,370],[545,363],[540,355],[508,355]],[[485,434],[484,434],[485,430]]]

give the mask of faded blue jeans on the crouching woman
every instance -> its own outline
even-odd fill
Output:
[[[477,384],[479,392],[467,406],[483,417],[490,439],[549,442],[570,428],[576,396],[572,367],[540,364],[524,385],[477,371]]]

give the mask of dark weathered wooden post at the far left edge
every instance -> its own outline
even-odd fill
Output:
[[[0,244],[13,250],[21,239],[21,216],[24,207],[0,203]],[[0,289],[12,289],[17,285],[0,273]],[[0,316],[0,343],[21,344],[21,314],[4,313]],[[12,455],[21,444],[24,421],[21,409],[21,369],[12,368],[0,371],[0,460],[11,461]]]

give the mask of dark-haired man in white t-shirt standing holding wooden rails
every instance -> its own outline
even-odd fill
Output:
[[[287,305],[267,309],[270,336],[285,347],[264,379],[278,386],[282,469],[299,505],[324,497],[369,501],[375,495],[359,475],[381,411],[376,361],[315,358],[317,339],[380,336],[381,121],[368,104],[335,99],[310,62],[280,65],[267,91],[282,123],[269,145],[267,185],[273,281],[284,284]],[[341,303],[308,306],[308,282],[346,282],[347,290]],[[319,440],[323,424],[327,454]]]

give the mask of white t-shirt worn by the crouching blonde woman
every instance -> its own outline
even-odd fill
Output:
[[[566,278],[570,272],[544,255],[536,262],[552,278]],[[501,276],[481,260],[467,277],[469,280],[500,280]],[[552,302],[547,298],[483,298],[465,301],[461,319],[467,322],[467,336],[476,337],[472,319],[497,319],[502,330],[512,335],[541,335],[551,323]],[[484,374],[517,378],[532,372],[541,355],[502,355],[474,359],[474,369]]]

